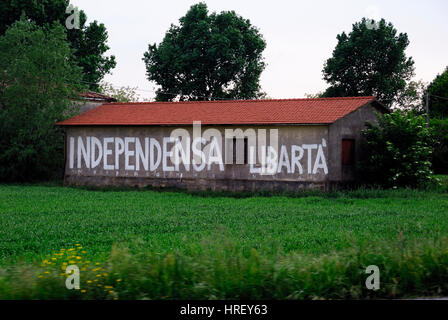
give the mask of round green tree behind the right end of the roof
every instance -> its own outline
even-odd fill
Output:
[[[407,34],[397,34],[384,19],[375,23],[363,18],[337,40],[323,69],[330,84],[324,96],[374,95],[392,105],[414,75],[414,61],[405,54]]]

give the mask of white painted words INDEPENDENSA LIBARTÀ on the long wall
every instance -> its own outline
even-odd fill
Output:
[[[279,145],[277,129],[270,129],[269,134],[266,129],[225,129],[223,139],[217,129],[202,132],[198,122],[192,132],[191,136],[186,129],[176,129],[160,139],[70,136],[68,165],[70,169],[105,171],[201,172],[214,167],[224,171],[226,164],[247,164],[251,174],[259,175],[328,174],[325,139]]]

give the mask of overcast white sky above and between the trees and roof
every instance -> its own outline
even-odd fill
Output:
[[[146,79],[143,53],[159,43],[170,24],[178,24],[199,0],[71,0],[88,21],[98,20],[109,32],[108,55],[117,67],[105,80],[115,86],[138,87],[143,98],[154,97],[156,85]],[[415,60],[415,79],[431,81],[448,65],[448,1],[446,0],[205,0],[209,11],[234,10],[249,19],[267,42],[267,67],[261,76],[271,98],[300,98],[323,91],[324,61],[336,35],[349,32],[362,17],[385,18],[406,32],[408,56]]]

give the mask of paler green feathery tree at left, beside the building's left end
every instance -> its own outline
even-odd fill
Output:
[[[0,181],[51,178],[64,163],[54,123],[77,111],[70,98],[83,89],[65,28],[13,23],[0,36],[0,70]]]

